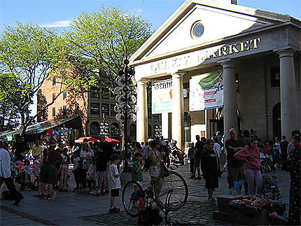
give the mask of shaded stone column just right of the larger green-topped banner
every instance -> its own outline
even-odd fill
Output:
[[[224,134],[225,141],[230,139],[229,130],[237,129],[237,99],[235,86],[235,64],[234,61],[221,62],[223,66],[224,80]]]

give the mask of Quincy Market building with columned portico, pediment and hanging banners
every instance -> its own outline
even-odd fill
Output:
[[[231,3],[232,2],[232,3]],[[262,141],[301,127],[300,20],[188,0],[132,55],[138,81],[137,141],[148,139],[146,83],[162,135],[178,141],[254,129]],[[204,78],[204,79],[203,79]]]

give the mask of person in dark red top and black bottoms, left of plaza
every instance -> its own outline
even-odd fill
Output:
[[[48,195],[47,199],[54,199],[51,195],[52,186],[57,183],[57,161],[63,162],[61,154],[55,150],[57,144],[56,139],[50,139],[47,145],[48,148],[43,150],[43,164],[40,170],[39,181],[41,182],[41,193],[40,197],[43,199],[46,183],[48,183]]]

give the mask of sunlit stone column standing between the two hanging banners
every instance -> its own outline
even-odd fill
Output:
[[[172,139],[178,142],[178,148],[184,150],[183,73],[172,75],[172,104]]]

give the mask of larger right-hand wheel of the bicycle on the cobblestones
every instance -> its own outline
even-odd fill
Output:
[[[162,186],[160,188],[160,181]],[[188,199],[188,186],[184,178],[175,171],[160,174],[155,182],[155,200],[163,209],[181,209]]]

